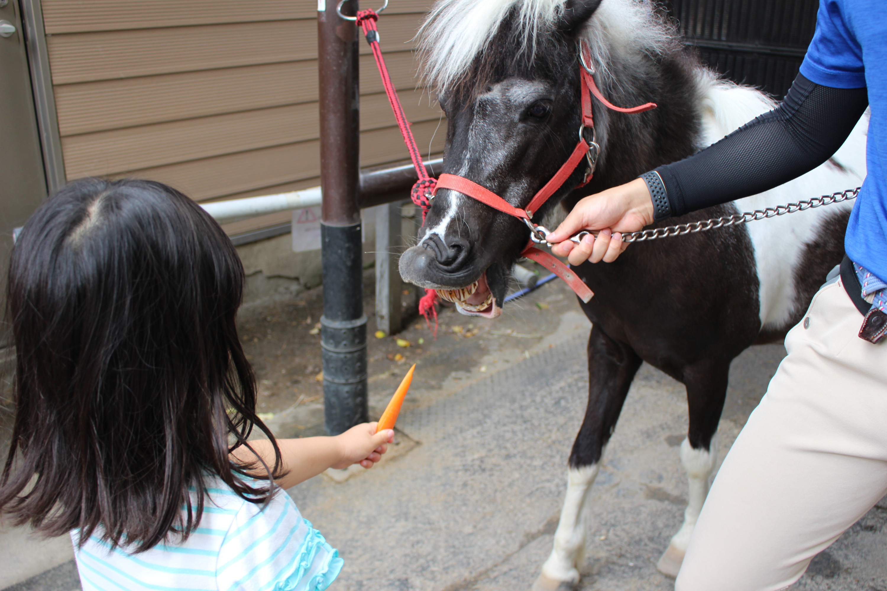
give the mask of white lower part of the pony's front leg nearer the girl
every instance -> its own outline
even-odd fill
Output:
[[[554,532],[554,548],[542,565],[542,574],[548,579],[574,585],[579,582],[578,567],[585,562],[585,501],[598,470],[599,464],[594,463],[568,471],[567,495]]]

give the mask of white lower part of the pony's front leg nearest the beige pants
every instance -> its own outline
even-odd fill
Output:
[[[671,537],[668,549],[656,564],[656,568],[672,577],[678,575],[680,564],[687,552],[687,545],[690,543],[690,536],[693,534],[693,528],[703,510],[705,497],[709,494],[709,478],[711,470],[714,470],[715,467],[715,457],[717,457],[717,452],[714,440],[711,442],[710,450],[694,449],[690,446],[688,439],[684,439],[680,444],[680,462],[684,464],[684,470],[687,470],[690,498],[687,502],[687,510],[684,511],[683,525],[680,526],[678,533]]]

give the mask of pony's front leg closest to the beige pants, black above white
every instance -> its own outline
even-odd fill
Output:
[[[684,523],[656,563],[659,572],[670,577],[678,576],[696,520],[709,494],[709,478],[718,455],[713,438],[724,408],[729,371],[729,361],[703,362],[684,369],[690,424],[687,439],[680,444],[680,463],[687,470],[689,498]]]

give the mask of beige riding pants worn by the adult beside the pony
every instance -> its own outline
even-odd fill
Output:
[[[861,323],[838,281],[789,331],[789,354],[711,487],[677,591],[789,587],[887,493],[887,340],[859,338]]]

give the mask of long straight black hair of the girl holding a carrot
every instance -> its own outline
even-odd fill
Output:
[[[100,526],[144,551],[192,533],[214,475],[265,502],[281,463],[234,324],[243,284],[224,231],[162,183],[88,178],[47,199],[9,268],[16,416],[0,514],[81,542]],[[274,443],[267,486],[230,456],[254,425]]]

